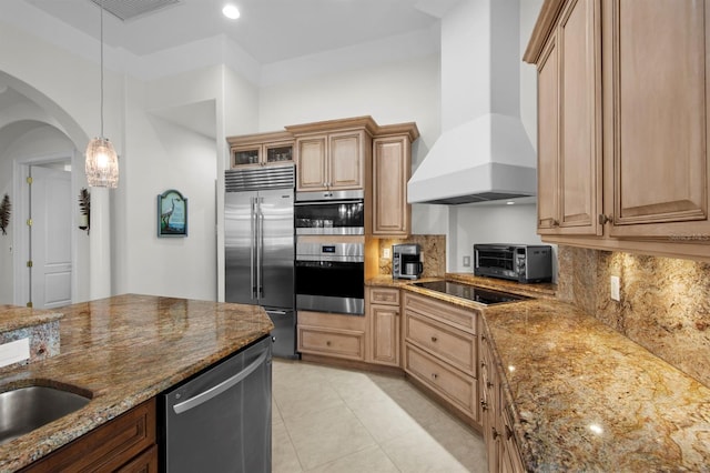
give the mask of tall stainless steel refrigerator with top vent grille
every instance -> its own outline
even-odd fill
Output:
[[[293,165],[225,171],[225,301],[262,305],[273,354],[297,358]]]

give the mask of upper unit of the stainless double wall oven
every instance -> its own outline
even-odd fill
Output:
[[[365,234],[363,191],[300,192],[296,194],[296,234]]]

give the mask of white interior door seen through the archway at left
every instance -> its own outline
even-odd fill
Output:
[[[71,172],[30,168],[32,306],[52,309],[71,303]]]

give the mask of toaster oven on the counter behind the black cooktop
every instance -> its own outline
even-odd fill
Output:
[[[552,281],[552,248],[530,244],[474,244],[474,274],[517,282]]]

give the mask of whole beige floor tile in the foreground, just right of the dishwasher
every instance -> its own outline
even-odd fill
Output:
[[[284,416],[284,423],[305,470],[375,446],[375,440],[344,404],[306,416]]]

